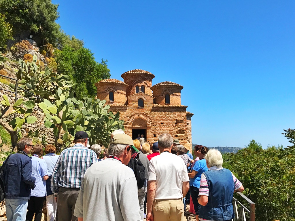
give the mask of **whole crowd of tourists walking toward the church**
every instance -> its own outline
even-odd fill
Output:
[[[196,220],[227,221],[233,193],[244,190],[219,151],[196,145],[194,159],[191,145],[169,133],[152,143],[116,130],[102,159],[86,132],[74,143],[60,155],[49,144],[43,156],[41,144],[18,141],[2,166],[8,221],[40,221],[45,201],[48,221],[183,221],[187,204]]]

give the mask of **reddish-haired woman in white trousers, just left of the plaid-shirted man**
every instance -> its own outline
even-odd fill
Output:
[[[54,199],[53,192],[50,189],[50,180],[51,175],[53,172],[53,168],[59,158],[58,155],[55,154],[56,148],[52,144],[48,144],[45,147],[45,156],[43,156],[43,160],[46,161],[47,164],[47,171],[49,174],[49,178],[46,180],[46,189],[47,189],[47,195],[46,195],[46,210],[47,210],[47,221],[54,221],[56,217],[56,206],[57,202]]]

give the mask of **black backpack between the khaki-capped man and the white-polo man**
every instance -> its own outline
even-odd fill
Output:
[[[132,155],[128,166],[134,171],[137,181],[137,189],[141,189],[145,184],[145,167],[141,163],[137,153]]]

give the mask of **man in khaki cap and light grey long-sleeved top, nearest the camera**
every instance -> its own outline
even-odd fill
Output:
[[[135,175],[125,166],[132,150],[138,152],[133,145],[127,134],[114,135],[110,140],[108,158],[86,171],[74,212],[79,221],[141,220]]]

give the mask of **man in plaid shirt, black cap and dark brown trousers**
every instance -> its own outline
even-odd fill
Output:
[[[75,134],[75,145],[63,150],[53,169],[50,187],[57,197],[58,219],[78,220],[74,216],[78,191],[86,170],[97,162],[96,153],[87,148],[89,138],[86,132]]]

